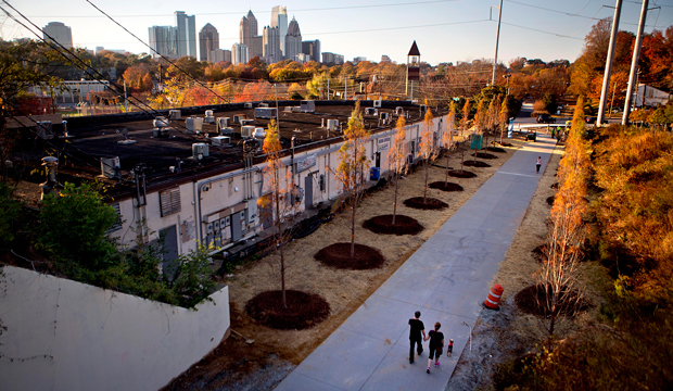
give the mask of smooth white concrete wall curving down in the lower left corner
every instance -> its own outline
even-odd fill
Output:
[[[152,390],[216,348],[228,288],[199,311],[4,266],[0,390]]]

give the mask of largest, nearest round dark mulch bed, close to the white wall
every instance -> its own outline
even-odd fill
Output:
[[[266,291],[245,304],[245,312],[258,323],[280,330],[302,330],[327,319],[330,305],[314,293],[285,290],[287,308],[280,290]],[[247,338],[251,338],[247,336]]]

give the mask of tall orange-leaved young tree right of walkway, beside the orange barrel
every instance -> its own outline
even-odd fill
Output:
[[[577,108],[582,98],[579,99]],[[547,314],[547,331],[554,335],[559,316],[572,314],[582,301],[579,291],[579,263],[586,234],[589,159],[584,140],[584,113],[575,110],[566,154],[558,172],[559,191],[551,207],[546,260],[538,274],[538,288],[544,290],[541,303]]]

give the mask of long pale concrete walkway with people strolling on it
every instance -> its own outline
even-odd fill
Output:
[[[444,390],[466,349],[469,327],[488,311],[480,304],[555,144],[538,134],[537,142],[519,149],[276,390]],[[541,174],[535,173],[537,156]],[[445,353],[430,375],[428,342],[414,364],[408,360],[407,320],[415,311],[421,311],[426,331],[440,321],[445,343],[454,339],[453,356]]]

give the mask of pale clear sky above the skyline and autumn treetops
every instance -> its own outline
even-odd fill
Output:
[[[0,7],[11,11],[0,0]],[[406,63],[414,40],[421,61],[492,60],[495,54],[499,0],[341,0],[341,1],[230,1],[230,0],[89,0],[113,16],[142,42],[94,9],[87,0],[7,0],[39,28],[49,22],[71,26],[73,43],[94,49],[150,52],[148,27],[175,25],[175,11],[195,15],[196,34],[211,23],[219,31],[221,49],[239,40],[239,23],[249,10],[255,14],[259,35],[270,24],[275,5],[288,8],[304,40],[320,40],[322,52],[345,60],[365,56],[379,62],[382,54]],[[599,18],[614,14],[614,0],[504,0],[498,62],[526,59],[569,60],[582,54],[584,37]],[[640,1],[623,1],[620,29],[636,33]],[[673,0],[650,0],[645,31],[664,30],[673,24]],[[0,11],[2,39],[36,38]],[[36,30],[35,28],[33,28]],[[38,31],[41,37],[41,33]]]

